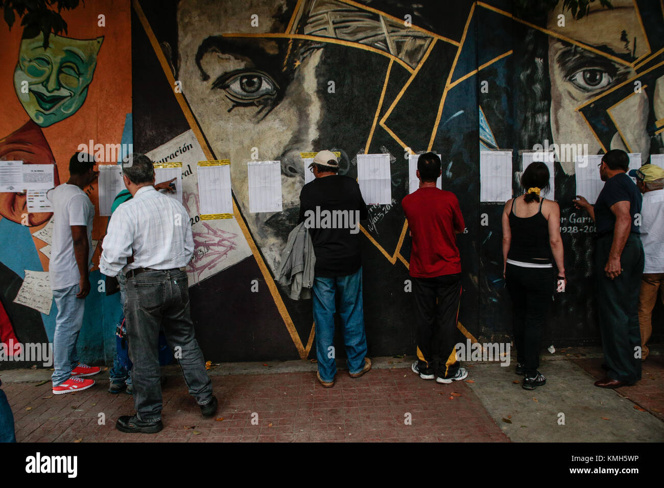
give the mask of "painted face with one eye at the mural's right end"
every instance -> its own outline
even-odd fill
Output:
[[[648,49],[634,4],[625,0],[612,4],[616,7],[612,10],[591,7],[589,15],[580,21],[570,19],[567,13],[565,26],[558,25],[561,13],[558,7],[549,16],[547,25],[551,31],[600,51],[592,52],[572,42],[549,38],[550,120],[554,142],[587,143],[590,154],[600,153],[602,145],[578,108],[635,76],[631,63],[647,54]],[[604,149],[640,152],[645,162],[651,147],[646,129],[650,110],[657,112],[657,107],[651,107],[645,91],[631,93],[613,106],[610,116],[618,130],[610,147]],[[574,173],[574,161],[564,160],[562,154],[561,165],[565,173]]]

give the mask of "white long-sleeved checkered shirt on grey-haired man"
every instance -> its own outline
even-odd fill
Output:
[[[120,204],[108,224],[100,271],[169,270],[187,266],[194,253],[189,214],[181,203],[147,186]],[[127,258],[133,253],[133,262]]]

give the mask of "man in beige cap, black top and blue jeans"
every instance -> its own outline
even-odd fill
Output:
[[[316,256],[313,281],[317,378],[325,387],[334,386],[337,373],[334,349],[335,297],[339,293],[339,315],[351,378],[371,369],[367,355],[365,317],[362,305],[362,259],[359,220],[368,216],[360,187],[352,178],[338,175],[335,153],[320,151],[309,165],[315,176],[299,195],[299,222],[311,229]]]

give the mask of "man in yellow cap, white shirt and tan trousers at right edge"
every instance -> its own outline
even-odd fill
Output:
[[[629,171],[643,193],[641,206],[641,242],[645,264],[639,292],[639,328],[641,361],[648,357],[647,343],[653,331],[653,308],[657,291],[664,303],[664,169],[643,165]]]

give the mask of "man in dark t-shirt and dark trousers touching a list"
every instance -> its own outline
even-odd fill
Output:
[[[606,364],[602,388],[618,388],[641,379],[641,331],[637,305],[643,272],[643,246],[639,236],[641,193],[626,172],[629,156],[612,149],[602,157],[600,177],[604,188],[593,207],[577,195],[595,221],[597,243],[595,275],[597,306]]]

